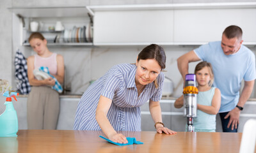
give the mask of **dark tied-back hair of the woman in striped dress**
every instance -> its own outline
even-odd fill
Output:
[[[138,55],[137,61],[140,61],[140,59],[156,59],[159,66],[161,66],[161,70],[165,68],[166,55],[164,49],[159,45],[151,44],[143,48]]]

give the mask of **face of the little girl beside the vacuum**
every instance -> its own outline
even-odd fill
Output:
[[[211,80],[211,75],[209,72],[209,68],[205,66],[201,70],[196,72],[196,81],[198,82],[198,85],[205,86],[209,85],[209,81]]]

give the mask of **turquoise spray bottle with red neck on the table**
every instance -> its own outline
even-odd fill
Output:
[[[0,115],[0,137],[3,136],[17,136],[18,132],[18,117],[16,110],[13,107],[12,97],[17,101],[15,96],[19,96],[17,92],[4,92],[3,96],[6,96],[4,105],[6,108]]]

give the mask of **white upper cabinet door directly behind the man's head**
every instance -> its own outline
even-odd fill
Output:
[[[229,25],[243,29],[243,40],[256,43],[256,9],[191,9],[174,11],[175,43],[207,43],[221,40]]]

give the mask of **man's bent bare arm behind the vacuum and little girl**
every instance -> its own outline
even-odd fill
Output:
[[[186,74],[188,74],[189,62],[200,61],[200,58],[195,54],[194,50],[182,55],[177,59],[178,68],[183,80],[185,80]]]

